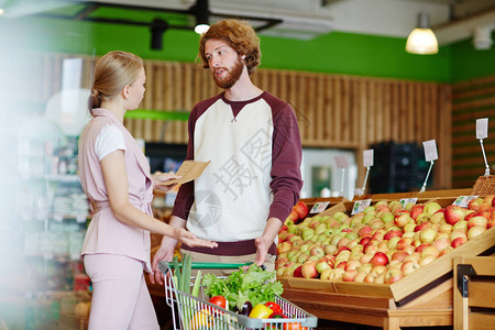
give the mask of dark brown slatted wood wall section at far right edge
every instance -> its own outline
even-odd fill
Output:
[[[453,187],[470,187],[484,175],[485,164],[476,140],[476,119],[488,118],[488,138],[483,140],[491,174],[495,174],[495,76],[452,86]]]

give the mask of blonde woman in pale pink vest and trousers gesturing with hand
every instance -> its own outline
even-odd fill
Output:
[[[79,140],[79,176],[95,216],[81,254],[92,282],[89,329],[158,329],[143,270],[151,272],[150,232],[189,246],[215,248],[185,229],[153,218],[150,165],[123,125],[139,107],[145,73],[140,57],[110,52],[95,67],[89,99],[92,119]],[[156,178],[161,188],[173,175]]]

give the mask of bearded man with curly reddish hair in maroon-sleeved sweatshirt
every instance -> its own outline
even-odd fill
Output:
[[[274,270],[276,238],[302,187],[297,119],[285,101],[256,87],[260,40],[253,28],[223,20],[201,36],[198,56],[222,89],[189,117],[187,160],[211,161],[184,184],[169,224],[218,248],[183,246],[193,261],[256,263]],[[153,260],[172,261],[177,242],[164,238]],[[161,272],[154,272],[162,283]],[[151,278],[154,282],[154,278]]]

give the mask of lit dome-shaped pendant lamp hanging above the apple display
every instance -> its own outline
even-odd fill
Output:
[[[429,28],[429,15],[421,12],[418,15],[418,28],[407,37],[406,52],[411,54],[437,54],[438,41],[433,31]]]

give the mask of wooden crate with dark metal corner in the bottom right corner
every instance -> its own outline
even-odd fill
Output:
[[[458,256],[453,270],[454,329],[494,329],[495,255]]]

